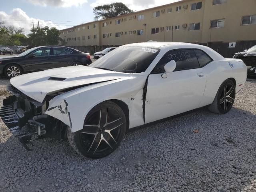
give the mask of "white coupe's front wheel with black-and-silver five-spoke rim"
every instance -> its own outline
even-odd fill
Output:
[[[70,145],[85,158],[105,157],[119,146],[126,132],[126,117],[123,110],[111,101],[96,105],[87,114],[82,130],[67,136]]]

